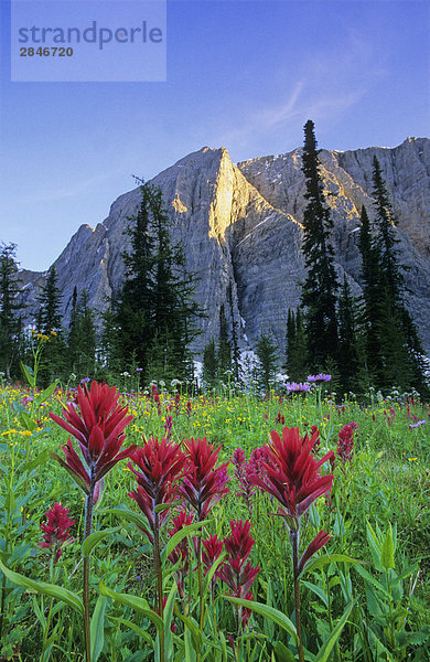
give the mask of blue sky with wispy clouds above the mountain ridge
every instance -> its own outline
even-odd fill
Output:
[[[327,149],[430,137],[427,1],[169,0],[162,83],[12,83],[0,11],[0,241],[24,268],[205,145],[286,152],[309,118]]]

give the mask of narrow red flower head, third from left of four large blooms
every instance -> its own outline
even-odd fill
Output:
[[[229,492],[226,487],[229,478],[228,462],[215,467],[219,448],[216,450],[204,439],[190,439],[184,442],[187,451],[187,476],[180,490],[186,501],[197,511],[201,521],[211,508]]]

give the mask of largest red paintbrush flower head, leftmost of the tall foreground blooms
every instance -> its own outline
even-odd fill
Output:
[[[119,393],[107,384],[93,382],[90,389],[78,386],[74,403],[63,409],[64,418],[50,414],[51,418],[73,435],[80,447],[85,463],[75,451],[71,439],[63,446],[65,460],[56,453],[57,460],[74,478],[86,494],[94,491],[96,483],[115,467],[119,460],[131,456],[136,445],[120,451],[125,441],[123,429],[132,420],[127,416],[128,407],[118,404]]]

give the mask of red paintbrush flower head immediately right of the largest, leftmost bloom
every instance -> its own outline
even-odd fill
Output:
[[[128,495],[135,499],[153,533],[155,508],[162,503],[171,503],[176,495],[174,481],[183,474],[185,456],[178,444],[166,439],[159,442],[158,438],[150,437],[144,446],[133,451],[131,459],[140,471],[133,469],[131,462],[128,463],[129,469],[138,479],[137,490]],[[168,510],[159,513],[160,525],[168,515]],[[153,542],[153,535],[148,531],[144,533]]]

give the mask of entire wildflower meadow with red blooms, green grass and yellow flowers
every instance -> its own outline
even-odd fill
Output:
[[[0,660],[428,662],[429,405],[181,388],[3,383]]]

